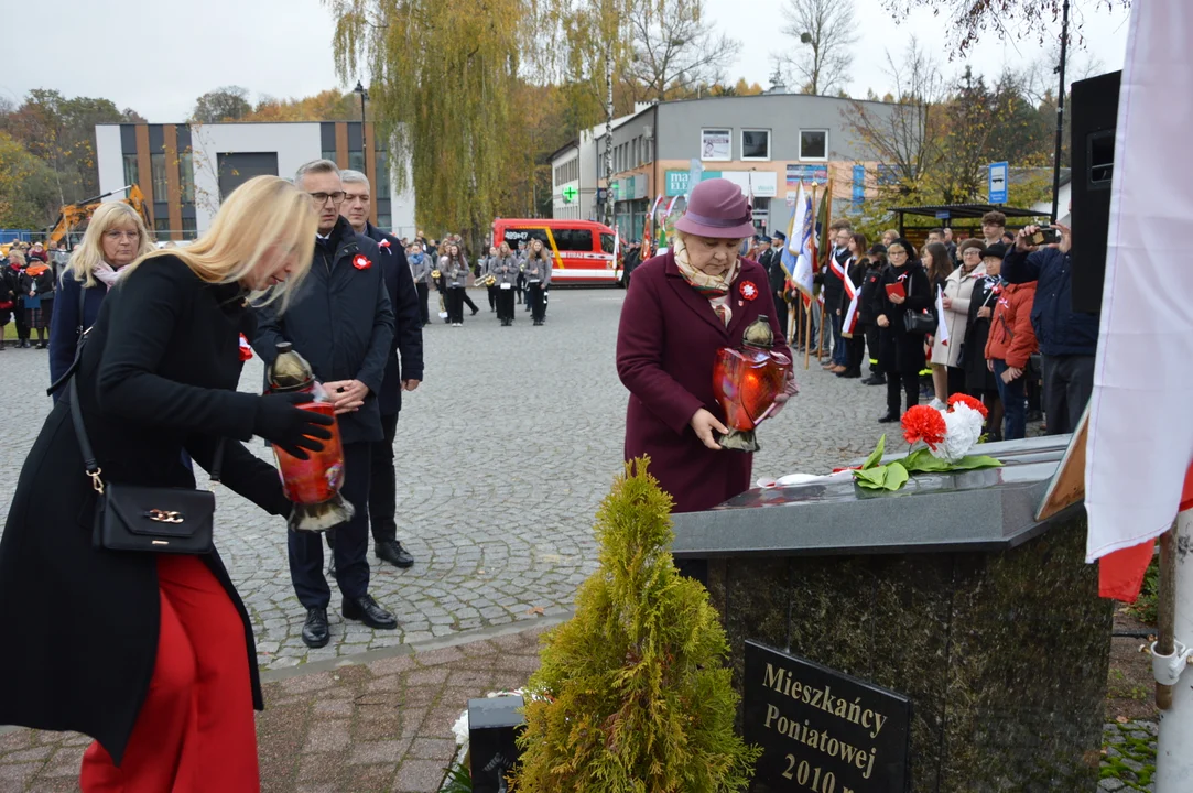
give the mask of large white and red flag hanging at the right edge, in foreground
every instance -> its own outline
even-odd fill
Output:
[[[1173,97],[1193,95],[1193,4],[1131,8],[1086,450],[1086,560],[1133,600],[1155,538],[1193,507],[1193,159]],[[1078,243],[1080,244],[1080,241]],[[1157,289],[1156,285],[1162,285]]]

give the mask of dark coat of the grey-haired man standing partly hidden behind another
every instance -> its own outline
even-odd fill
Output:
[[[377,401],[381,415],[391,416],[402,409],[402,380],[422,379],[422,314],[419,311],[419,292],[414,287],[410,262],[406,260],[402,242],[372,223],[365,224],[365,236],[381,248],[382,274],[394,310],[394,343],[389,349],[385,377]]]

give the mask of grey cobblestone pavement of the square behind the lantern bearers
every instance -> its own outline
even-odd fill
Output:
[[[396,631],[345,624],[333,597],[332,643],[308,650],[290,584],[285,527],[239,496],[220,496],[216,541],[255,622],[266,669],[422,643],[571,607],[595,565],[592,516],[622,463],[626,391],[614,371],[624,292],[555,290],[548,324],[518,306],[501,328],[482,306],[463,328],[426,328],[426,383],[406,395],[398,425],[398,537],[418,559],[372,558],[371,591]],[[801,360],[802,363],[802,360]],[[797,368],[803,388],[760,432],[754,473],[828,472],[873,448],[884,389]],[[0,514],[50,408],[44,351],[0,352]],[[255,390],[261,367],[245,371]],[[252,448],[267,458],[260,441]]]

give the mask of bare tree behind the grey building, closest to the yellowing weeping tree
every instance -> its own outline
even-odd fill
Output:
[[[701,0],[635,4],[629,18],[633,50],[625,72],[635,101],[662,101],[669,92],[724,80],[741,44],[717,33],[703,11]]]

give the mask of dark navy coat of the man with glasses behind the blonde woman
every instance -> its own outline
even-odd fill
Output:
[[[354,264],[358,254],[361,267]],[[320,382],[369,386],[364,405],[339,416],[345,444],[384,438],[377,397],[394,345],[394,310],[381,256],[377,243],[341,217],[329,240],[315,244],[310,273],[285,314],[278,314],[277,304],[258,308],[256,336],[249,336],[266,366],[278,357],[277,342],[290,341]]]

